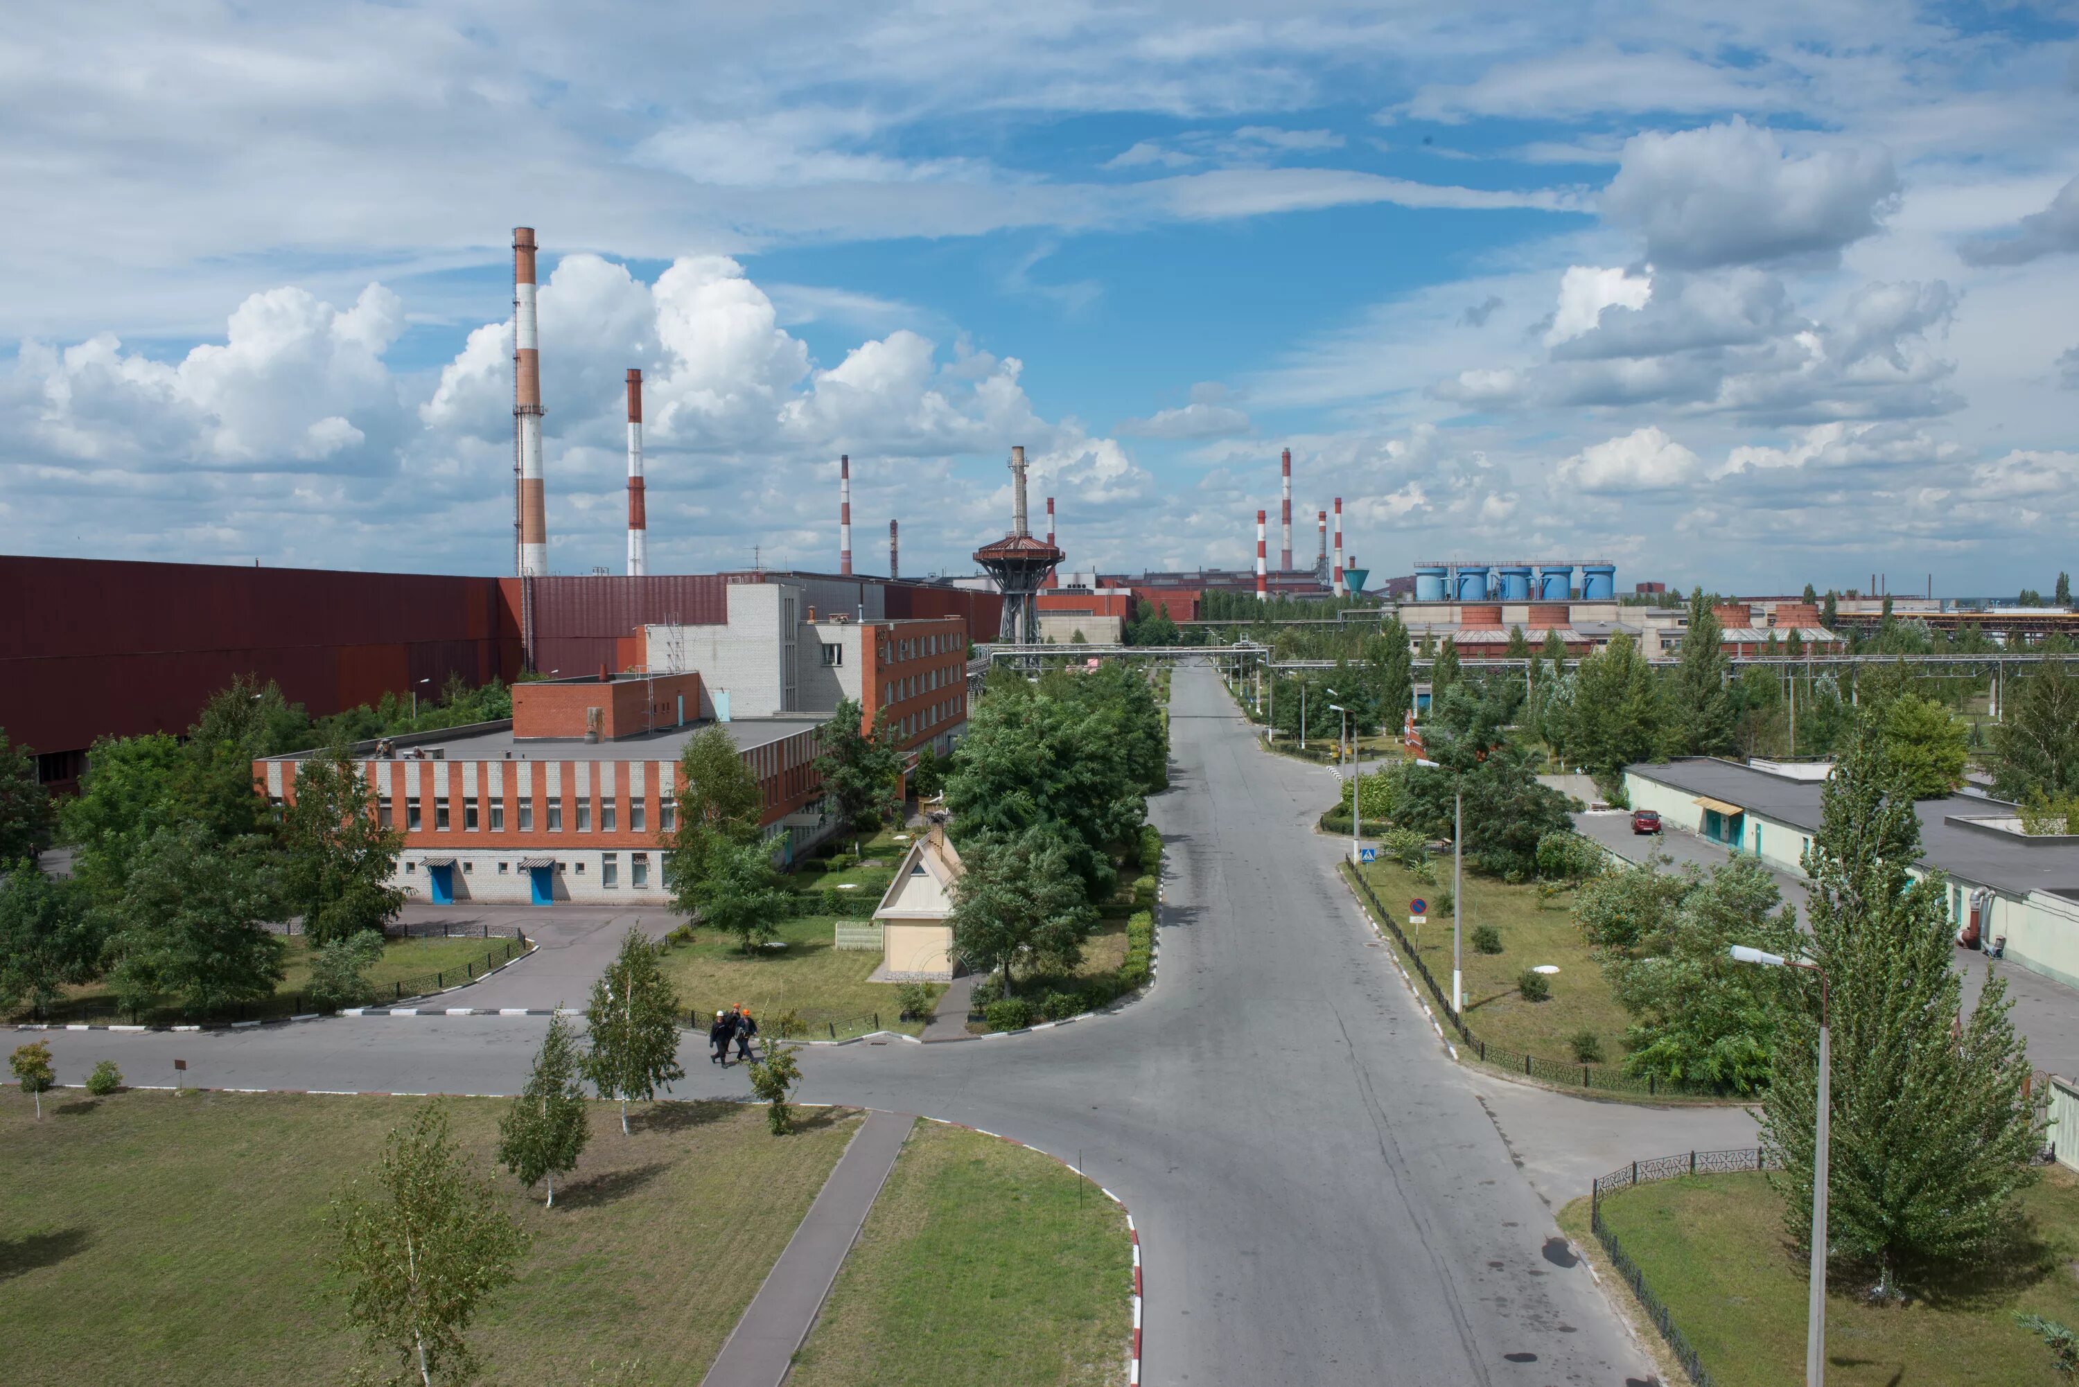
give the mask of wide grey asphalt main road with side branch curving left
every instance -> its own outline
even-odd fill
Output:
[[[1651,1379],[1312,832],[1322,771],[1252,744],[1218,680],[1173,684],[1160,975],[1029,1036],[807,1056],[805,1100],[929,1113],[1079,1160],[1141,1227],[1146,1383]],[[206,1036],[58,1033],[60,1077],[511,1092],[532,1019],[358,1019]],[[686,1090],[742,1094],[686,1046]]]

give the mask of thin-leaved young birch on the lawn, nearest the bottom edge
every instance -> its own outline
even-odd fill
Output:
[[[514,1279],[528,1248],[499,1204],[432,1104],[389,1133],[374,1196],[356,1181],[333,1200],[333,1268],[349,1283],[347,1323],[368,1335],[370,1354],[395,1354],[401,1377],[416,1366],[422,1387],[476,1377],[462,1333]]]

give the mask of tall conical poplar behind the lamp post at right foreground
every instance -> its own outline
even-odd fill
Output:
[[[1963,1015],[1948,882],[1940,871],[1915,880],[1919,855],[1913,794],[1865,715],[1825,782],[1805,855],[1805,952],[1825,971],[1834,1031],[1830,1252],[1873,1271],[1886,1296],[1902,1275],[1992,1248],[2039,1146],[2006,988],[1990,975]],[[1763,1108],[1792,1239],[1809,1237],[1819,1000],[1800,979]]]

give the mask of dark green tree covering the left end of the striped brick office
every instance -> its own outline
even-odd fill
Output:
[[[314,944],[383,932],[403,909],[391,886],[403,834],[376,823],[374,796],[343,744],[293,763],[295,803],[283,815],[283,892]]]

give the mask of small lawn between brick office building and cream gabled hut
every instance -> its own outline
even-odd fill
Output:
[[[827,1036],[830,1023],[844,1036],[846,1023],[865,1017],[863,1025],[850,1029],[857,1036],[871,1029],[871,1017],[879,1013],[886,1029],[919,1033],[923,1021],[898,1019],[896,984],[867,982],[881,963],[879,950],[834,948],[836,923],[830,915],[782,919],[778,930],[786,948],[759,957],[744,957],[736,936],[701,930],[690,944],[667,944],[663,971],[678,986],[680,1004],[701,1017],[738,1002],[751,1006],[751,1015],[761,1021],[794,1011],[809,1023],[811,1038],[817,1038]]]

